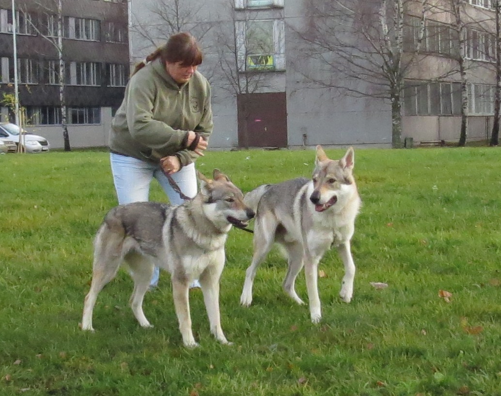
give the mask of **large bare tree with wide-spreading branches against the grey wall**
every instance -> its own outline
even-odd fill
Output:
[[[426,5],[426,0],[305,0],[309,22],[295,32],[323,73],[293,66],[316,86],[389,100],[392,147],[402,147],[401,93],[423,39]],[[409,14],[417,17],[418,26],[409,26]]]

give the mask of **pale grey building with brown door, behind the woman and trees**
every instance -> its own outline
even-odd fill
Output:
[[[318,17],[309,15],[312,7],[322,10],[323,4],[330,2],[185,0],[177,9],[177,21],[166,3],[131,0],[131,56],[142,59],[154,48],[152,43],[162,44],[173,32],[161,27],[175,25],[172,22],[199,38],[206,55],[200,70],[213,88],[212,147],[391,146],[388,99],[340,94],[327,84],[315,83],[333,77],[325,64],[309,58],[311,44],[298,33],[305,32]],[[360,8],[369,3],[376,8],[382,4],[360,2]],[[433,7],[425,14],[419,53],[405,72],[402,139],[459,139],[460,43],[457,21],[446,7],[452,3],[434,0],[427,4]],[[493,1],[457,0],[457,4],[464,31],[467,139],[485,139],[492,125],[495,86]],[[405,50],[415,51],[415,46],[408,44],[417,39],[422,2],[406,0],[404,5]],[[333,25],[340,22],[332,18]],[[337,62],[335,57],[332,62]],[[372,89],[362,76],[353,80],[357,91]]]

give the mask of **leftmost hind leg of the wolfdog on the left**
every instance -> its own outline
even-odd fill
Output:
[[[105,231],[100,230],[103,234]],[[94,263],[92,265],[92,282],[89,293],[85,296],[84,312],[82,315],[82,329],[94,331],[92,327],[92,312],[96,304],[97,296],[103,287],[110,282],[117,274],[123,260],[121,255],[121,244],[118,241],[99,238],[98,234],[94,247]]]

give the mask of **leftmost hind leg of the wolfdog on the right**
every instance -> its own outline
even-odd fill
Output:
[[[254,227],[254,255],[252,263],[245,271],[245,282],[243,283],[242,294],[240,295],[240,304],[244,307],[252,303],[252,287],[254,278],[261,262],[264,260],[275,241],[275,232],[277,221],[270,217],[262,217],[256,222]],[[273,231],[272,231],[273,230]]]

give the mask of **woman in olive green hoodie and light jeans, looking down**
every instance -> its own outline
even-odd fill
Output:
[[[196,70],[201,63],[195,38],[178,33],[132,73],[109,140],[120,205],[148,201],[153,177],[172,205],[182,204],[163,172],[185,195],[196,195],[194,161],[204,155],[213,126],[210,86]],[[151,287],[157,285],[158,275],[155,268]]]

